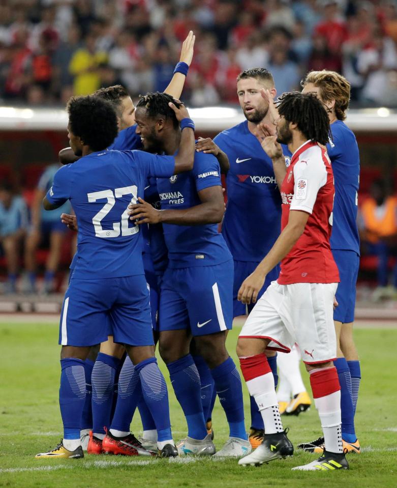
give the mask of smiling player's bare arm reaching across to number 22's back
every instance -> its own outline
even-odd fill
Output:
[[[138,224],[167,223],[176,225],[204,225],[219,223],[225,212],[223,191],[220,186],[211,186],[198,192],[200,204],[189,209],[156,210],[142,198],[139,204],[130,205],[131,220]]]

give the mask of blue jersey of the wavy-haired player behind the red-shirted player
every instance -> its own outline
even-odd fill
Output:
[[[335,184],[331,249],[360,253],[357,228],[357,199],[360,157],[353,132],[341,120],[331,124],[332,140],[327,144]]]

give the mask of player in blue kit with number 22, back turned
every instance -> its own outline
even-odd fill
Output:
[[[82,156],[59,169],[43,200],[52,210],[70,200],[78,222],[78,259],[65,294],[59,326],[61,378],[59,405],[64,439],[36,458],[80,458],[81,412],[85,401],[83,361],[91,346],[123,343],[135,364],[146,404],[158,431],[158,453],[177,455],[172,440],[168,392],[154,355],[149,293],[143,271],[141,233],[130,222],[128,205],[144,194],[148,177],[170,177],[193,167],[194,124],[185,107],[169,99],[180,122],[178,153],[155,156],[108,148],[117,134],[112,105],[98,97],[68,102],[70,145]],[[128,185],[128,186],[126,186]],[[142,449],[143,451],[143,449]],[[151,455],[146,452],[146,455]]]

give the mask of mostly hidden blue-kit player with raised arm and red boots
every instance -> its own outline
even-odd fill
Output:
[[[193,49],[195,43],[195,36],[192,31],[182,43],[180,61],[175,67],[173,78],[166,88],[165,92],[178,98],[184,87],[186,75],[193,58]],[[119,151],[141,149],[140,137],[136,134],[135,124],[135,106],[131,100],[130,95],[124,87],[115,85],[109,88],[103,88],[94,93],[95,96],[108,100],[112,103],[118,120],[119,132],[113,143],[108,149],[115,149]],[[77,159],[70,148],[62,150],[59,154],[60,160],[64,163],[72,162]],[[152,205],[158,205],[158,193],[156,189],[156,179],[149,179],[145,185],[144,197],[146,201]],[[64,215],[63,221],[70,226],[74,226],[74,218],[72,216]],[[146,282],[150,293],[150,307],[152,325],[157,334],[157,313],[159,305],[159,276],[162,275],[167,265],[167,249],[164,243],[162,229],[159,226],[142,226],[142,258],[145,270]],[[161,226],[160,226],[161,227]],[[150,245],[149,245],[150,242]],[[70,266],[73,272],[77,253],[74,256]],[[117,377],[121,374],[120,368],[123,365],[123,357],[125,356],[125,349],[119,344],[113,342],[113,338],[109,335],[108,340],[101,344],[100,352],[96,356],[96,351],[91,351],[90,356],[85,361],[85,374],[87,384],[92,384],[92,417],[91,417],[91,402],[87,395],[86,406],[84,408],[82,418],[82,432],[81,437],[83,445],[89,442],[87,452],[90,454],[101,454],[102,441],[105,437],[104,426],[108,428],[108,439],[111,441],[111,446],[107,446],[114,454],[135,454],[135,448],[140,447],[137,439],[129,432],[129,420],[131,420],[130,412],[124,408],[124,400],[126,392],[120,396],[121,400],[118,403],[116,412],[115,428],[109,429],[111,420],[112,406],[115,406],[115,398],[113,397],[113,390],[117,392]],[[95,363],[94,363],[95,361]],[[130,377],[133,374],[133,365],[129,357],[125,360],[125,369],[122,376]],[[124,365],[123,365],[124,366]],[[121,378],[121,382],[128,381],[128,379]],[[128,396],[128,395],[127,395]],[[155,448],[157,443],[157,430],[149,410],[147,409],[143,399],[138,404],[139,413],[141,415],[143,424],[143,436],[139,440],[146,448]],[[122,414],[122,412],[125,414]],[[128,428],[127,428],[128,425]],[[116,428],[117,427],[117,428]],[[128,432],[127,432],[128,430]],[[91,433],[90,433],[91,432]],[[117,434],[117,435],[116,435]],[[84,440],[86,442],[84,444]]]

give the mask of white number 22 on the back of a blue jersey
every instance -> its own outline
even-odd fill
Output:
[[[132,195],[131,202],[128,205],[136,204],[137,192],[138,188],[136,187],[136,185],[133,185],[125,186],[123,188],[115,188],[114,190],[102,190],[95,191],[93,193],[87,193],[88,202],[96,202],[97,200],[101,200],[102,198],[107,199],[106,204],[93,218],[96,237],[101,237],[104,239],[107,239],[108,237],[118,237],[120,235],[120,229],[121,236],[131,236],[139,232],[139,225],[135,225],[134,227],[128,226],[128,206],[126,210],[121,214],[121,221],[113,222],[113,229],[104,229],[101,225],[101,221],[114,207],[114,204],[116,203],[116,198],[121,198],[124,195]]]

